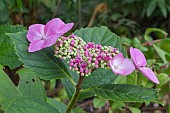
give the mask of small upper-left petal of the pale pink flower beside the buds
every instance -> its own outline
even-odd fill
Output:
[[[123,60],[124,60],[123,54],[119,53],[113,57],[113,59],[110,61],[110,63],[111,63],[111,65],[118,66],[123,62]]]

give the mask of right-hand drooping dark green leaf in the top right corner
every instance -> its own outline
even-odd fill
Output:
[[[157,1],[158,1],[158,6],[159,6],[163,16],[166,18],[167,17],[167,9],[166,9],[165,0],[157,0]]]

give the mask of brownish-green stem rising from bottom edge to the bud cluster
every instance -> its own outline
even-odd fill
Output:
[[[81,84],[83,82],[83,76],[80,75],[78,83],[76,85],[76,91],[74,92],[74,95],[71,99],[71,101],[69,102],[69,105],[67,107],[66,113],[70,113],[72,108],[74,107],[74,105],[76,104],[79,96],[80,96],[80,90],[81,90]]]

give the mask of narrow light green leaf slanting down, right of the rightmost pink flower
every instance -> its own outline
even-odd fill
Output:
[[[166,52],[163,51],[162,49],[160,49],[160,48],[159,48],[158,46],[156,46],[155,44],[153,44],[153,47],[154,47],[154,49],[156,50],[156,52],[158,53],[158,55],[160,56],[160,58],[162,59],[162,61],[163,61],[164,63],[167,63],[168,61],[166,60],[166,57],[165,57]]]

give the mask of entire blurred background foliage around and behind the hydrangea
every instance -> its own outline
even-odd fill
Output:
[[[170,0],[0,0],[0,24],[28,27],[45,24],[52,18],[74,22],[72,31],[107,26],[120,36],[126,50],[130,46],[139,48],[161,84],[140,78],[137,85],[159,89],[165,104],[114,103],[93,97],[77,106],[94,113],[170,113]],[[17,84],[16,70],[6,67],[7,74]],[[117,83],[134,84],[133,74],[119,78]],[[60,80],[44,81],[44,86],[49,97],[68,102]]]

